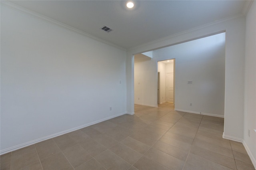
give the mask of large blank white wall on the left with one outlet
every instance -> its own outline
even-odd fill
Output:
[[[1,6],[1,150],[122,113],[126,51]]]

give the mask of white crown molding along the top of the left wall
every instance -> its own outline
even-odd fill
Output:
[[[126,51],[126,48],[124,48],[124,47],[120,47],[119,45],[116,45],[116,44],[114,44],[114,43],[110,43],[110,42],[108,42],[108,41],[106,41],[106,40],[103,40],[103,39],[101,39],[101,38],[98,38],[98,37],[96,37],[96,36],[93,36],[93,35],[91,35],[91,34],[88,34],[88,33],[84,32],[84,31],[78,30],[78,29],[76,29],[76,28],[74,28],[74,27],[72,27],[72,26],[69,26],[69,25],[64,24],[64,23],[62,23],[62,22],[58,22],[58,21],[56,21],[56,20],[54,20],[54,19],[52,19],[52,18],[49,18],[49,17],[44,16],[44,15],[42,15],[42,14],[38,14],[38,13],[36,13],[36,12],[33,12],[33,11],[28,10],[28,9],[26,9],[26,8],[23,8],[23,7],[21,7],[21,6],[18,6],[18,5],[16,5],[16,4],[12,3],[12,2],[7,1],[7,0],[0,0],[0,1],[1,1],[1,5],[6,6],[6,7],[8,7],[8,8],[11,8],[11,9],[13,9],[13,10],[16,10],[16,11],[18,11],[18,12],[22,12],[22,13],[25,13],[25,14],[30,14],[30,15],[32,15],[32,16],[35,16],[36,18],[39,18],[39,19],[48,21],[48,22],[53,23],[53,24],[56,24],[56,25],[58,25],[58,26],[62,26],[62,27],[64,27],[64,28],[68,29],[68,30],[77,32],[77,33],[82,34],[83,36],[86,36],[86,37],[88,37],[88,38],[92,38],[92,39],[97,40],[97,41],[99,41],[99,42],[102,42],[102,43],[111,45],[112,47],[116,47],[116,48],[118,48],[118,49],[121,49],[121,50],[123,50],[123,51]]]

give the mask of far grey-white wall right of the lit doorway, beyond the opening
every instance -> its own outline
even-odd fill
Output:
[[[153,51],[154,60],[170,56],[176,61],[175,109],[224,115],[225,33]]]

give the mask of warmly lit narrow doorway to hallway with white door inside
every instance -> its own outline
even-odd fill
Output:
[[[175,59],[158,61],[158,104],[175,105]]]

